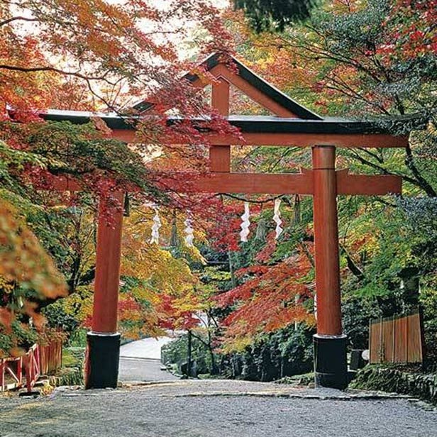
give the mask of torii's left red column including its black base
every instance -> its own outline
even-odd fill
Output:
[[[120,334],[117,332],[117,308],[123,193],[116,192],[113,197],[118,205],[102,200],[99,205],[92,331],[87,334],[87,389],[115,388],[118,382]]]

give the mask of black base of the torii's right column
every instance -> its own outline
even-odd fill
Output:
[[[348,387],[346,336],[314,337],[314,379],[316,387]]]

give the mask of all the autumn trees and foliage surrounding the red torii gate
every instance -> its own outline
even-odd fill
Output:
[[[238,10],[209,1],[172,1],[165,9],[135,0],[124,8],[97,0],[1,1],[2,355],[23,353],[57,327],[70,344],[84,344],[97,199],[114,202],[114,187],[135,184],[142,194],[118,205],[130,213],[123,228],[123,337],[186,331],[166,354],[192,363],[192,375],[272,380],[311,370],[311,198],[280,197],[284,232],[276,239],[275,199],[162,189],[178,168],[206,169],[204,138],[189,127],[182,132],[187,146],[174,148],[160,143],[174,131],[143,123],[147,146],[133,149],[109,139],[98,118],[86,126],[38,119],[48,108],[126,114],[135,99],[153,95],[161,120],[176,102],[179,113],[210,114],[213,128],[229,129],[211,114],[206,94],[177,81],[197,71],[199,57],[220,50],[322,116],[377,117],[393,133],[409,133],[405,150],[338,152],[338,167],[404,178],[402,197],[338,200],[343,324],[350,348],[367,348],[370,319],[420,306],[426,368],[435,370],[437,2],[309,3],[296,17],[266,11],[258,1],[236,2]],[[180,47],[195,55],[181,60]],[[232,99],[231,113],[266,114],[237,90]],[[238,171],[297,172],[311,162],[302,148],[234,149]],[[74,175],[83,192],[48,191],[48,174]],[[248,242],[240,243],[243,201],[252,224]],[[150,243],[153,206],[162,219],[159,245]],[[187,217],[194,247],[183,238]]]

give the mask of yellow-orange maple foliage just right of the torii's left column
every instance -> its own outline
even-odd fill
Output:
[[[126,295],[146,311],[141,319],[143,335],[156,335],[165,329],[189,329],[199,323],[194,318],[201,308],[198,280],[190,265],[201,264],[203,258],[197,248],[184,243],[182,236],[175,236],[176,226],[182,232],[184,217],[178,214],[176,219],[176,214],[169,212],[160,211],[160,244],[150,242],[153,209],[135,209],[126,220],[121,275],[125,282],[133,280]]]

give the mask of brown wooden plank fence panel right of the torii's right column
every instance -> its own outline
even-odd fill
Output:
[[[423,344],[419,311],[370,321],[370,364],[421,363]]]

